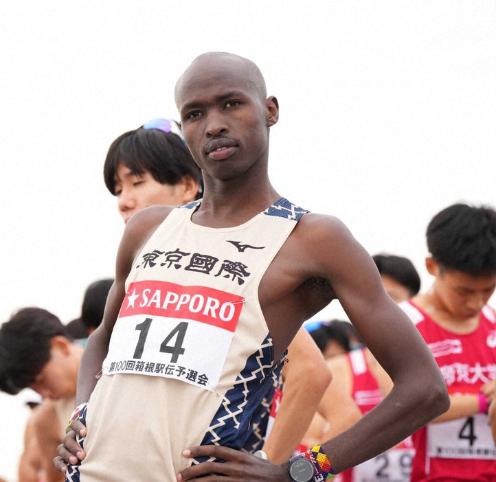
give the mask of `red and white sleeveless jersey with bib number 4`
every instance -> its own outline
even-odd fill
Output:
[[[450,395],[480,393],[496,378],[496,314],[480,313],[478,328],[454,334],[441,328],[411,301],[400,304],[422,334],[438,363]],[[412,482],[496,481],[496,448],[488,416],[429,424],[412,436],[416,456]]]

